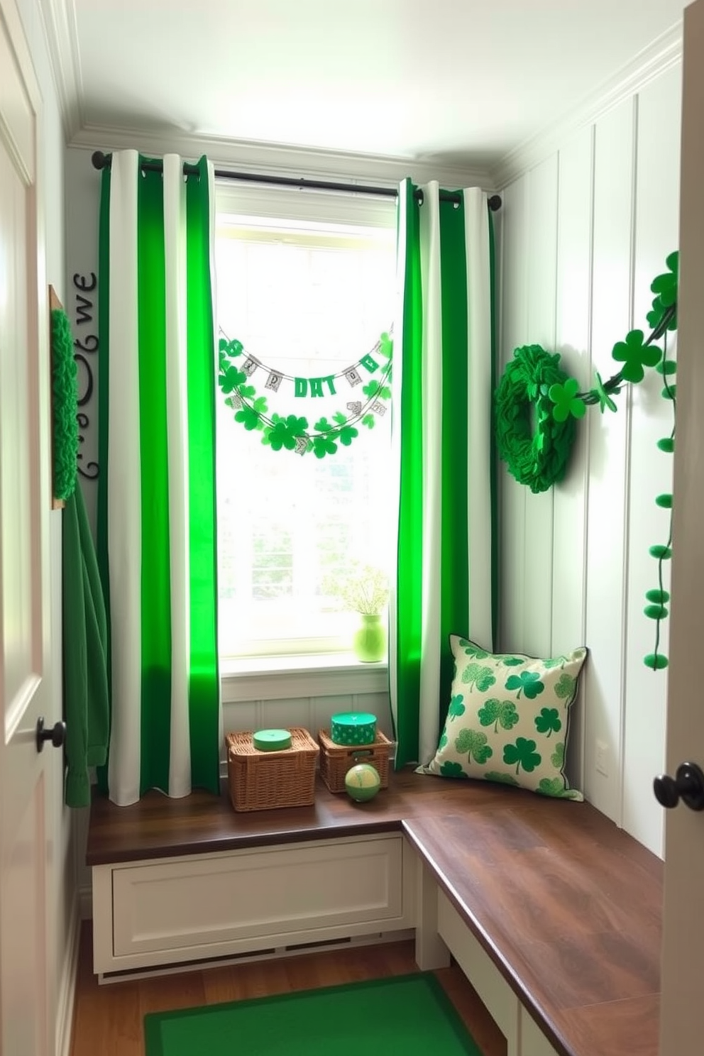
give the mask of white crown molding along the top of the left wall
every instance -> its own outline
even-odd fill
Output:
[[[39,0],[66,142],[83,124],[83,84],[74,0]]]

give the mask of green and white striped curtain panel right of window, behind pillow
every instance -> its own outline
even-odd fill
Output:
[[[397,769],[427,763],[450,704],[449,635],[493,643],[492,234],[487,195],[399,194],[394,352],[398,549],[389,612]]]

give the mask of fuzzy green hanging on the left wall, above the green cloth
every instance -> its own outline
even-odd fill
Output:
[[[52,427],[54,497],[65,499],[76,488],[78,383],[73,336],[62,308],[52,308]]]

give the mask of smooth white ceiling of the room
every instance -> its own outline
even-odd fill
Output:
[[[42,0],[82,129],[491,169],[683,0]],[[60,10],[59,10],[60,8]],[[59,49],[60,51],[60,49]],[[71,101],[71,100],[70,100]],[[74,132],[78,131],[74,128]]]

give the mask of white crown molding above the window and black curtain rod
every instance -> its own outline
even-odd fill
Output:
[[[85,125],[71,137],[69,146],[104,151],[133,148],[142,154],[156,156],[169,152],[184,157],[207,154],[216,167],[267,175],[292,174],[313,180],[335,177],[350,183],[359,180],[362,183],[377,182],[389,187],[410,176],[418,184],[437,180],[450,189],[493,189],[488,170],[471,165],[452,166],[413,157],[354,154],[247,139],[226,139],[220,136],[193,135],[179,130],[149,132],[144,129]]]

